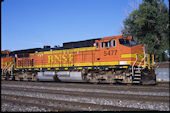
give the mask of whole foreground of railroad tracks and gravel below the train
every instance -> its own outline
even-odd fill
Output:
[[[2,81],[1,99],[2,111],[169,111],[169,83],[126,86]]]

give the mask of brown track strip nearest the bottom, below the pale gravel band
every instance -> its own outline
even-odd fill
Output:
[[[139,110],[135,108],[124,108],[124,107],[116,107],[116,106],[109,106],[109,105],[97,105],[97,104],[89,104],[89,103],[79,103],[79,102],[68,102],[68,101],[60,101],[60,100],[49,100],[49,99],[42,99],[42,98],[35,98],[35,97],[23,97],[23,96],[11,96],[11,95],[2,95],[2,98],[8,101],[16,101],[23,103],[27,101],[27,103],[34,103],[43,105],[46,108],[48,107],[55,107],[58,109],[64,109],[63,111],[121,111],[121,110]],[[54,111],[54,110],[51,110]]]

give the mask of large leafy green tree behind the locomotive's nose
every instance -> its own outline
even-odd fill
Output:
[[[156,61],[163,61],[165,50],[169,51],[169,8],[164,0],[143,0],[124,20],[121,32],[145,44],[147,53],[155,54]]]

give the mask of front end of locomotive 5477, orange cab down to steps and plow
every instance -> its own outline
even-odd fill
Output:
[[[142,84],[156,83],[156,75],[152,68],[154,57],[152,57],[151,65],[144,45],[136,43],[131,36],[123,37],[120,35],[97,40],[96,50],[100,53],[98,55],[100,61],[98,60],[98,62],[105,61],[104,65],[111,68],[114,65],[113,73],[117,73],[114,75],[116,78],[114,80],[121,83],[130,81]]]

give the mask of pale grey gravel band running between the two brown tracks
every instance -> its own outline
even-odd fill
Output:
[[[81,97],[81,96],[71,96],[71,95],[62,95],[62,94],[46,94],[46,93],[38,93],[38,92],[11,91],[11,90],[1,90],[1,93],[9,94],[9,95],[17,95],[17,96],[45,98],[45,99],[52,99],[52,100],[64,100],[70,102],[93,103],[99,105],[112,105],[112,106],[128,107],[128,108],[169,111],[169,103],[162,103],[162,102],[152,103],[149,101]]]

